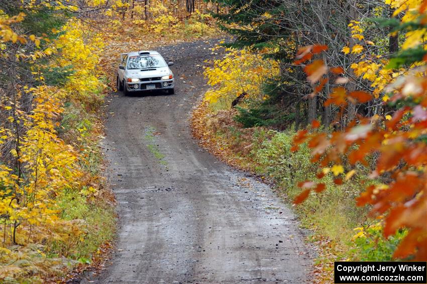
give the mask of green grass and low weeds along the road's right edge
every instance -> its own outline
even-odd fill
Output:
[[[296,153],[290,151],[294,134],[291,130],[270,132],[271,138],[257,134],[263,142],[254,144],[249,155],[256,164],[254,170],[273,179],[288,201],[301,192],[296,185],[298,181],[317,179],[316,166],[310,162],[306,145]],[[354,201],[362,188],[357,178],[342,187],[335,185],[331,176],[323,181],[328,185],[327,190],[319,195],[311,194],[296,211],[304,227],[315,227],[317,233],[345,246],[354,234],[353,228],[366,220],[366,209],[357,208]]]

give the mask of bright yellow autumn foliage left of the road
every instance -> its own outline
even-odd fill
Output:
[[[14,42],[14,33],[11,33],[8,25],[18,20],[17,17],[5,16],[0,19],[3,25],[1,41]],[[6,32],[3,32],[4,29]],[[36,46],[40,45],[40,39],[36,36],[29,35],[28,39],[34,41]],[[15,228],[54,226],[59,221],[57,196],[67,190],[95,194],[94,187],[89,186],[86,190],[82,183],[84,172],[79,163],[80,154],[58,137],[56,127],[66,99],[84,103],[102,86],[97,71],[102,47],[99,35],[87,32],[79,21],[69,21],[62,28],[62,34],[48,48],[18,56],[35,63],[39,58],[54,54],[48,65],[71,66],[72,72],[60,87],[43,84],[24,86],[22,91],[17,90],[17,102],[7,101],[10,99],[8,97],[0,102],[0,109],[11,114],[9,122],[20,124],[22,129],[17,137],[10,126],[0,125],[0,145],[6,142],[16,144],[8,154],[20,164],[18,170],[0,164],[0,220],[5,228],[9,225]],[[45,78],[38,70],[40,66],[34,64],[32,74],[44,82]],[[32,98],[31,112],[21,110],[18,102],[24,96]],[[86,192],[83,193],[83,189]]]

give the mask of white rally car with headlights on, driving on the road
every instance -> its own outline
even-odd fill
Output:
[[[125,95],[134,91],[166,90],[175,93],[173,73],[157,51],[122,53],[117,71],[117,89]]]

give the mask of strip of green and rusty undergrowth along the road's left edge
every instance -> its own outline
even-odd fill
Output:
[[[98,100],[102,96],[100,93],[93,95],[97,95],[93,106],[99,107]],[[101,133],[102,124],[96,112],[67,103],[60,126],[64,140],[70,144],[75,141],[81,149],[79,163],[87,173],[84,180],[87,185],[81,191],[70,188],[58,197],[60,218],[64,222],[78,223],[79,227],[72,229],[74,238],[54,241],[47,250],[80,263],[90,263],[98,248],[114,238],[116,230],[115,199],[101,176],[103,156],[98,134]],[[97,190],[92,189],[90,184],[96,185]]]

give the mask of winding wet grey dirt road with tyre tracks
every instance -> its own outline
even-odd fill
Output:
[[[158,50],[176,94],[114,93],[104,151],[119,203],[117,250],[97,283],[305,283],[310,260],[297,223],[271,189],[191,138],[216,41]]]

